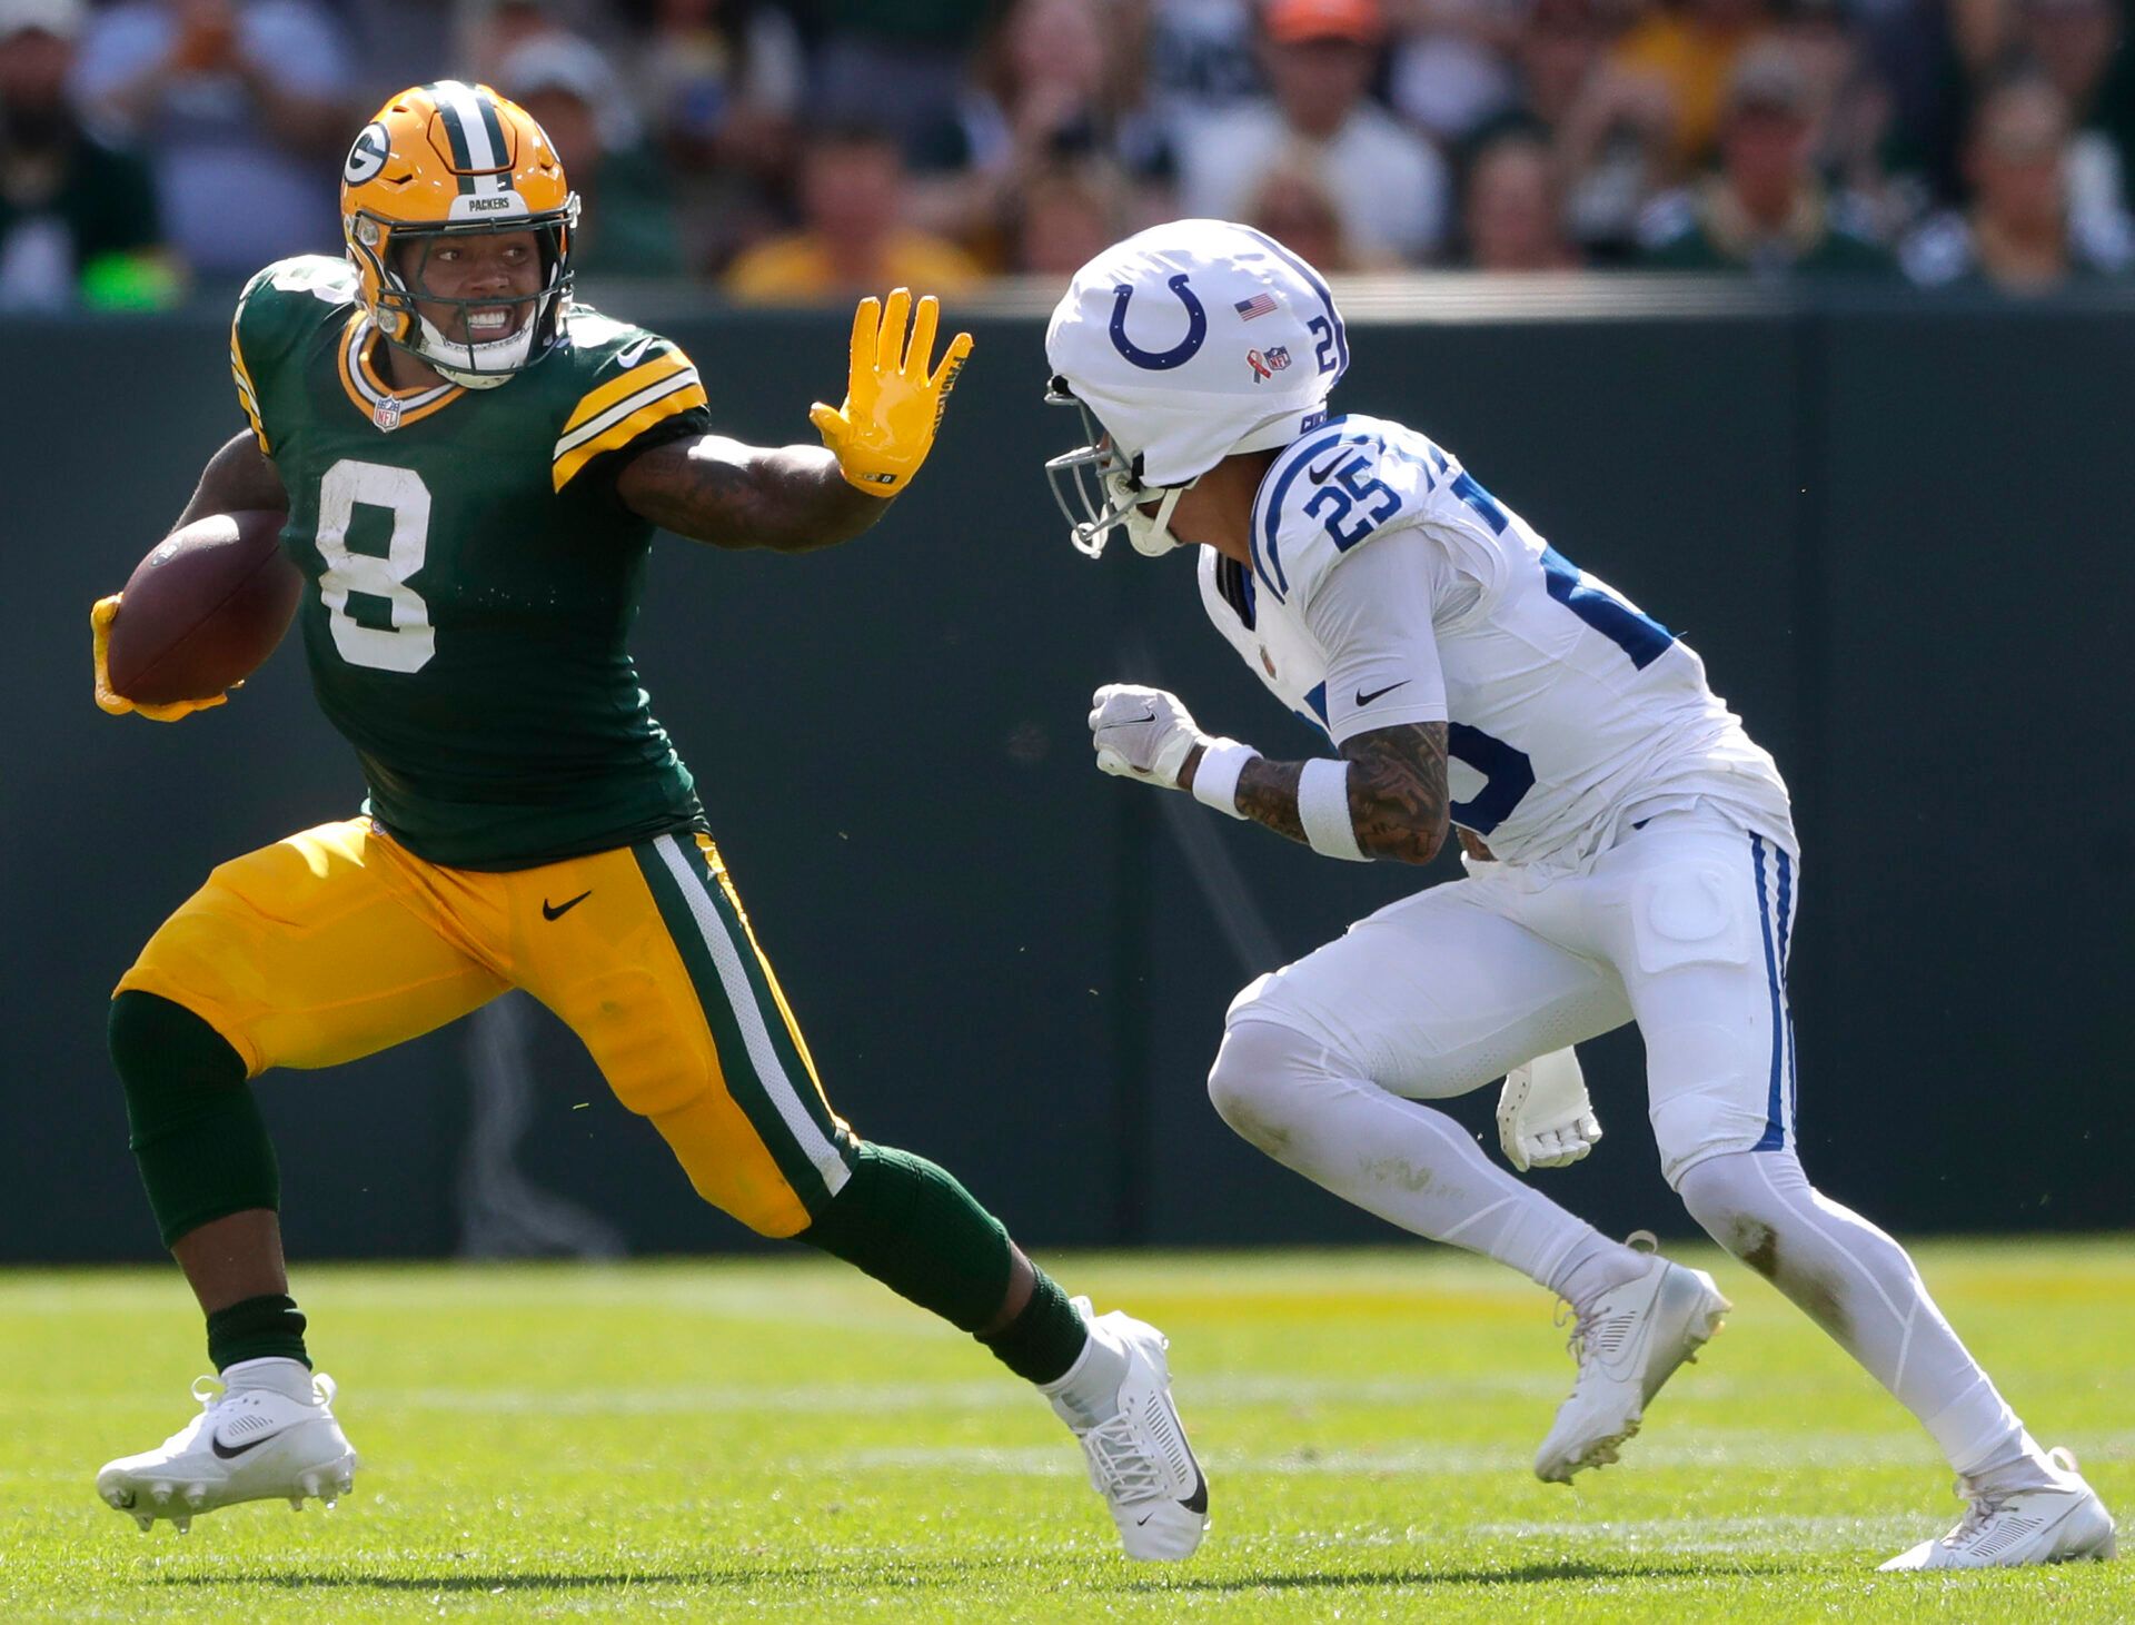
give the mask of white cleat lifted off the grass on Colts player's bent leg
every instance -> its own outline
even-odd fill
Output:
[[[1629,1245],[1640,1243],[1650,1249],[1652,1232],[1635,1232]],[[1616,1461],[1623,1441],[1638,1433],[1646,1401],[1676,1367],[1697,1358],[1729,1309],[1710,1275],[1665,1258],[1603,1292],[1571,1332],[1567,1347],[1580,1375],[1535,1452],[1535,1478],[1569,1484],[1582,1467]]]

